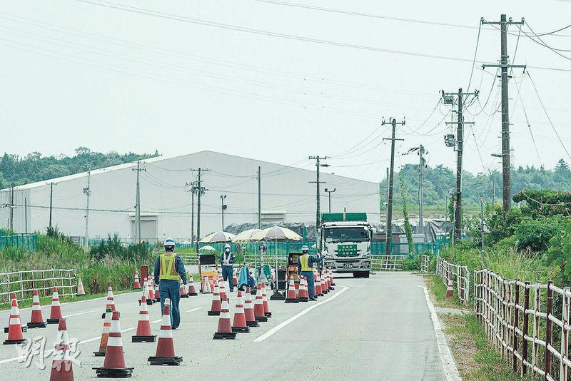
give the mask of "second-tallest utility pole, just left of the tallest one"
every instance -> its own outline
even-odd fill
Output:
[[[454,235],[456,240],[462,238],[462,159],[464,155],[464,124],[474,122],[464,121],[464,97],[465,96],[478,96],[478,91],[473,93],[463,93],[462,88],[458,89],[458,93],[445,93],[442,91],[442,96],[445,104],[453,104],[453,97],[456,96],[458,100],[458,121],[446,122],[446,124],[456,125],[456,140],[453,142],[456,145],[456,207],[454,209]],[[449,100],[452,98],[452,103]],[[447,143],[448,145],[448,143]]]

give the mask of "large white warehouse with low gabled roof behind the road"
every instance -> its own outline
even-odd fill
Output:
[[[190,240],[191,191],[198,168],[206,192],[201,196],[201,237],[224,225],[258,222],[258,166],[261,168],[261,216],[263,222],[315,224],[315,171],[213,151],[184,156],[159,156],[141,161],[141,240],[164,238]],[[89,238],[106,238],[117,233],[135,239],[137,163],[91,171],[89,198]],[[315,168],[315,166],[310,167]],[[310,183],[313,181],[313,183]],[[324,188],[330,194],[333,212],[366,212],[379,220],[378,183],[321,173],[321,210],[328,210]],[[0,190],[0,226],[15,233],[45,232],[51,224],[79,239],[86,231],[88,173]],[[50,194],[52,195],[50,196]],[[226,198],[221,200],[221,195]],[[13,200],[12,200],[13,197]],[[50,208],[51,201],[51,208]],[[12,208],[9,205],[13,205]],[[196,195],[194,231],[196,234]],[[12,213],[12,216],[11,216]]]

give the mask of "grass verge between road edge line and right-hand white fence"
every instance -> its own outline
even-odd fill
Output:
[[[445,298],[446,286],[437,275],[426,275],[424,280],[436,306],[465,308],[465,305],[460,303],[458,298]],[[500,353],[487,341],[481,322],[473,314],[449,315],[439,313],[438,317],[444,323],[443,329],[446,340],[448,340],[462,380],[521,380],[507,365],[507,362],[502,359]]]

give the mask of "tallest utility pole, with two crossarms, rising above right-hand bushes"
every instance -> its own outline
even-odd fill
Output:
[[[523,68],[525,65],[511,65],[507,62],[507,26],[508,25],[523,25],[525,19],[522,17],[521,21],[512,21],[510,17],[506,21],[505,14],[500,15],[500,21],[485,21],[480,19],[482,25],[492,24],[500,25],[500,64],[484,64],[482,67],[494,67],[502,69],[502,198],[503,198],[503,212],[507,213],[512,206],[512,192],[511,192],[511,164],[510,164],[510,114],[509,114],[509,98],[507,93],[507,68]]]

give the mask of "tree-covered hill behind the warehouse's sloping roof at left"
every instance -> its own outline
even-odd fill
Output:
[[[85,147],[79,147],[75,151],[76,155],[71,157],[41,156],[39,152],[30,153],[24,157],[4,153],[0,159],[0,189],[159,156],[158,151],[152,155],[148,153],[124,153],[122,155],[116,152],[101,153],[93,152]]]

